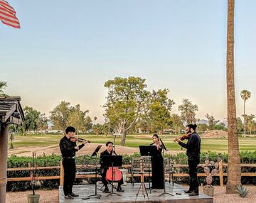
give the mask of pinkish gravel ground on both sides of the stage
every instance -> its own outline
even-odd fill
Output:
[[[241,198],[238,194],[225,194],[225,187],[217,186],[214,192],[214,203],[255,203],[256,202],[256,186],[247,187],[250,192],[247,197]],[[203,189],[200,187],[200,192]],[[37,190],[40,194],[40,203],[58,203],[58,190]],[[26,194],[31,194],[31,191],[26,192],[7,192],[7,203],[26,203]]]

